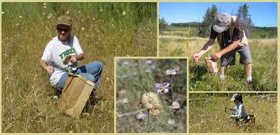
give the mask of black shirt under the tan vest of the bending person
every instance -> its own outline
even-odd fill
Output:
[[[241,22],[241,20],[240,20],[239,17],[236,18],[235,23],[236,23],[236,25],[237,25],[241,30],[244,29],[244,25],[243,25],[243,23]],[[215,38],[217,37],[217,35],[218,35],[218,33],[217,33],[216,31],[214,31],[213,25],[212,25],[210,38],[211,38],[211,39],[215,39]],[[243,38],[243,37],[244,37],[243,32],[239,31],[237,28],[234,28],[234,30],[233,30],[233,35],[232,35],[232,40],[233,40],[233,41],[238,41],[238,40],[240,40],[240,39]],[[232,42],[231,42],[231,37],[230,37],[230,28],[229,28],[227,31],[222,32],[221,38],[222,38],[222,41],[221,41],[222,44],[225,44],[225,43],[226,43],[225,46],[228,46],[228,45],[232,44]],[[227,42],[225,42],[225,40],[226,40]]]

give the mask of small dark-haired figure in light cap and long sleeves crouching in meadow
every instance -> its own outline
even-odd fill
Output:
[[[234,94],[231,100],[234,101],[236,106],[234,108],[231,108],[230,110],[235,111],[236,114],[231,115],[229,117],[229,119],[232,118],[233,121],[236,121],[236,122],[240,121],[240,122],[247,123],[248,122],[248,115],[246,113],[244,105],[242,104],[243,103],[242,96],[240,94]]]

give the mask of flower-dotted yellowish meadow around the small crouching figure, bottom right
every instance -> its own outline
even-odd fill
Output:
[[[277,132],[277,93],[242,93],[243,105],[248,115],[254,114],[255,125],[237,126],[229,108],[235,107],[229,93],[190,93],[189,132],[223,133],[275,133]],[[227,111],[225,112],[225,107]]]

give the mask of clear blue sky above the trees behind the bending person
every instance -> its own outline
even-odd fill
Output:
[[[165,21],[178,22],[202,22],[207,8],[215,4],[218,12],[236,14],[240,6],[245,3],[159,3],[159,16]],[[246,3],[249,6],[249,14],[255,26],[277,26],[277,3]]]

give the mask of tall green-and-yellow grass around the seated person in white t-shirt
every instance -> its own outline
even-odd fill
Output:
[[[114,56],[156,56],[156,3],[2,3],[2,132],[114,132]],[[39,67],[59,16],[85,60],[103,63],[96,94],[80,119],[59,111]]]

